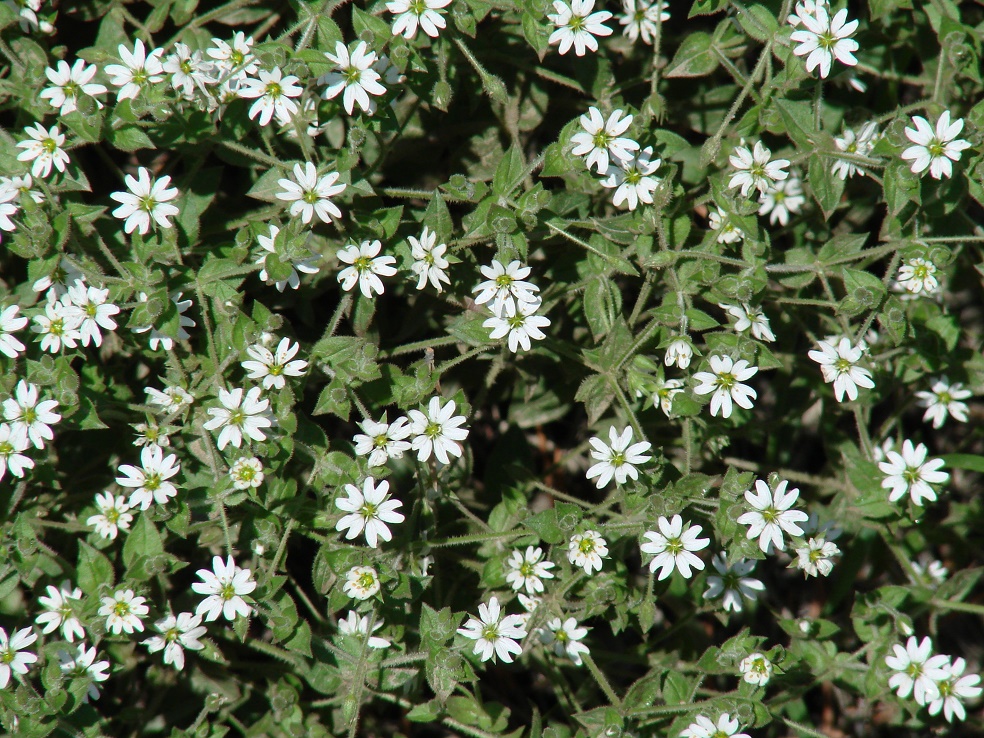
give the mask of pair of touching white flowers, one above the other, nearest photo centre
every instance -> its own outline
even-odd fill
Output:
[[[507,266],[493,261],[491,266],[481,267],[485,281],[472,290],[478,293],[475,304],[488,303],[492,312],[492,317],[482,323],[491,331],[489,338],[493,341],[505,338],[513,353],[520,348],[529,351],[530,340],[542,341],[546,334],[540,329],[550,325],[549,318],[537,314],[543,301],[536,294],[540,288],[526,281],[531,271],[518,261],[511,261]]]

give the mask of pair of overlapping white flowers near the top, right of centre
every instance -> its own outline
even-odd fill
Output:
[[[640,203],[653,204],[653,193],[660,183],[653,175],[662,163],[653,159],[651,146],[640,150],[638,141],[623,136],[632,120],[633,116],[622,110],[614,110],[605,120],[598,108],[591,107],[581,116],[583,130],[571,137],[572,153],[584,157],[589,171],[596,168],[604,176],[602,187],[615,190],[612,204],[625,205],[629,210]]]

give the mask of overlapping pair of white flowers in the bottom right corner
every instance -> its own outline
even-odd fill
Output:
[[[893,653],[885,657],[885,664],[895,673],[888,680],[888,686],[896,690],[902,699],[910,695],[919,705],[929,705],[929,714],[938,715],[943,711],[947,722],[967,719],[964,701],[975,700],[984,691],[978,674],[964,674],[967,662],[962,658],[952,658],[933,654],[933,642],[929,637],[918,641],[910,636],[905,647],[895,644]]]

